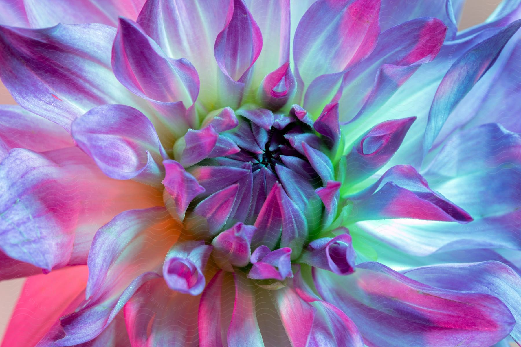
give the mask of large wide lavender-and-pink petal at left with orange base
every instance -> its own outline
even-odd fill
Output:
[[[160,203],[153,188],[106,177],[78,148],[13,149],[0,171],[2,249],[48,271],[84,264],[95,230],[116,213]]]

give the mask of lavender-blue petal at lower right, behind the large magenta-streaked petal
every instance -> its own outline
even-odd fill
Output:
[[[403,274],[432,287],[479,292],[498,297],[505,303],[519,322],[521,310],[521,278],[507,265],[497,262],[453,264],[419,267]],[[510,333],[514,340],[521,342],[521,325],[517,323]]]

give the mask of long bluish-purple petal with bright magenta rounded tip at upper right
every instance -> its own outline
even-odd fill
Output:
[[[347,132],[359,131],[358,126],[365,131],[377,123],[377,110],[421,64],[438,55],[446,31],[437,18],[418,18],[382,32],[374,52],[343,81],[340,114],[343,122],[350,121]]]

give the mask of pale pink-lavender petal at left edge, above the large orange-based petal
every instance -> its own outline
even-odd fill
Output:
[[[0,106],[0,127],[0,160],[11,148],[43,152],[74,146],[62,127],[18,105]]]

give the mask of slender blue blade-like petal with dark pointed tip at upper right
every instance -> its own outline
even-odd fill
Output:
[[[424,155],[431,148],[449,114],[483,74],[488,71],[507,41],[517,32],[520,26],[521,20],[513,22],[498,34],[468,50],[463,57],[458,58],[453,63],[441,81],[432,101],[424,135]],[[474,63],[468,62],[469,56],[474,57]]]

